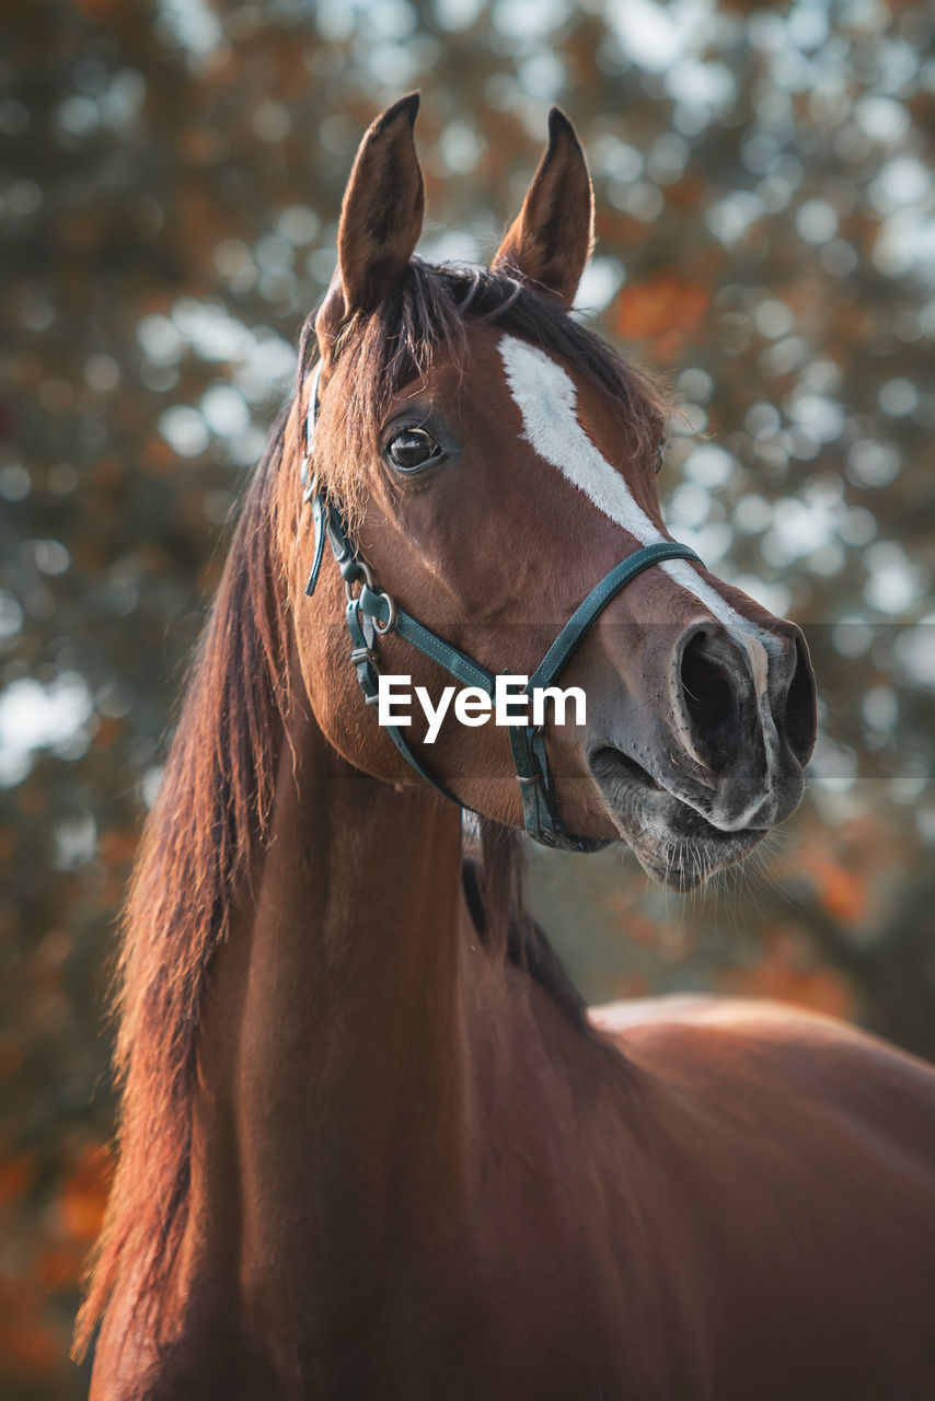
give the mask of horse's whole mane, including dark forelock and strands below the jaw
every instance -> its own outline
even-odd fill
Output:
[[[322,427],[343,432],[346,441],[325,486],[352,518],[362,497],[355,465],[371,447],[393,395],[439,352],[461,357],[470,325],[485,319],[566,357],[603,384],[634,453],[657,444],[664,425],[660,395],[555,298],[503,273],[436,268],[414,258],[394,294],[377,312],[352,319],[336,347],[349,361],[355,395],[341,427],[327,422],[325,399]],[[300,340],[300,402],[313,332],[314,314]],[[275,544],[275,483],[280,469],[289,469],[290,410],[287,405],[280,412],[245,496],[125,908],[114,999],[119,1159],[76,1324],[76,1358],[87,1349],[118,1279],[135,1311],[158,1307],[185,1230],[199,1012],[213,954],[264,848],[290,703],[289,604]],[[524,913],[517,834],[482,820],[481,845],[482,864],[467,880],[478,932],[583,1024],[580,999]]]

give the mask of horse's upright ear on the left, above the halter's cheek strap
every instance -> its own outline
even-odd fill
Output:
[[[338,226],[338,269],[318,312],[320,339],[393,291],[422,233],[425,189],[412,127],[411,92],[367,129],[350,171]]]

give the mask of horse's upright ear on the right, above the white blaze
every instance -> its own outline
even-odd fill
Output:
[[[554,106],[548,113],[548,146],[491,268],[554,291],[571,305],[593,237],[594,192],[587,161],[575,127]]]

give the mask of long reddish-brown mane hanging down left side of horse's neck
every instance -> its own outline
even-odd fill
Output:
[[[123,912],[114,998],[119,1161],[77,1356],[118,1275],[140,1300],[154,1297],[185,1226],[202,992],[268,828],[289,699],[273,559],[286,419],[283,410],[244,502]]]

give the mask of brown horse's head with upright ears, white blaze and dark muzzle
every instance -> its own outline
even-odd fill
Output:
[[[397,102],[362,142],[314,319],[317,368],[294,408],[299,444],[314,433],[306,500],[324,503],[311,598],[315,545],[294,464],[279,483],[311,706],[329,743],[377,778],[423,782],[416,764],[486,818],[526,817],[530,829],[526,800],[540,785],[551,845],[624,839],[652,876],[691,888],[799,803],[816,731],[805,640],[691,552],[656,549],[671,539],[656,482],[667,409],[571,314],[593,193],[568,119],[552,111],[521,212],[478,270],[415,256],[416,108],[415,97]],[[331,552],[321,558],[322,531],[335,555],[343,538],[362,562],[343,569],[346,590]],[[533,675],[592,590],[638,555],[638,574],[571,639],[561,684],[585,692],[586,713],[533,736],[527,790],[507,726],[449,715],[426,744],[416,710],[405,755],[377,724],[362,665],[370,682],[408,675],[436,702],[451,682],[394,626],[397,605],[491,677]],[[376,630],[364,646],[357,637],[350,665],[345,608],[357,584],[387,608],[373,604]]]

